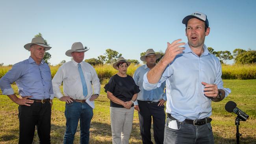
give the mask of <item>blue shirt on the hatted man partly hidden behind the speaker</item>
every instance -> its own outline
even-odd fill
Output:
[[[146,72],[148,72],[150,68],[148,68],[147,64],[140,66],[137,68],[137,70],[134,72],[134,81],[136,85],[139,86],[139,89],[141,90],[138,93],[137,100],[141,101],[152,101],[152,102],[158,102],[159,100],[167,100],[166,94],[164,92],[165,89],[165,81],[161,83],[160,87],[153,89],[153,90],[145,90],[143,88],[143,76]],[[134,105],[138,105],[137,100],[134,102]]]

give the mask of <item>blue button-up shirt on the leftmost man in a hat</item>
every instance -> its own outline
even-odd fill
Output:
[[[50,67],[41,61],[39,65],[32,57],[16,63],[0,79],[0,88],[3,94],[14,94],[11,83],[16,82],[20,96],[32,96],[32,99],[43,100],[54,97],[52,90],[52,76]]]

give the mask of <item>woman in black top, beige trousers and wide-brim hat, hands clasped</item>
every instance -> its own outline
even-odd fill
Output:
[[[130,65],[123,57],[119,57],[113,67],[118,73],[109,79],[105,92],[110,99],[110,121],[113,144],[128,144],[132,132],[134,117],[134,101],[137,99],[139,87],[134,79],[127,75]]]

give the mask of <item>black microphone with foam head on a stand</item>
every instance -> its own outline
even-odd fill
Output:
[[[236,107],[236,103],[233,101],[227,102],[225,105],[225,109],[229,113],[233,112],[233,113],[237,114],[237,117],[240,118],[242,121],[246,121],[249,118],[249,115],[247,115],[245,112],[238,109],[238,107]]]

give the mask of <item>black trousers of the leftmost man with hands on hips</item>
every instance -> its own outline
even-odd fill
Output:
[[[34,102],[31,106],[19,105],[19,144],[32,144],[35,126],[40,144],[50,144],[51,105],[50,102]]]

